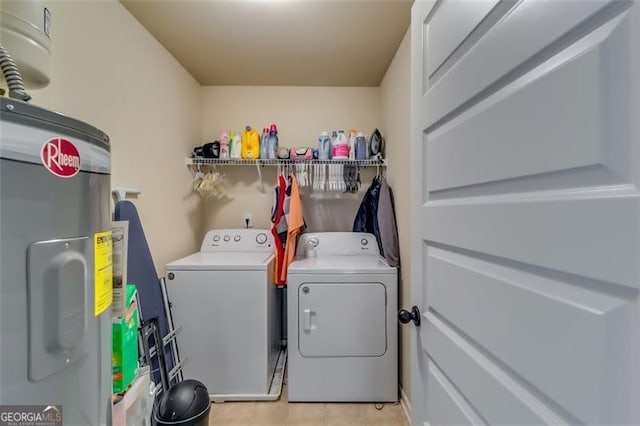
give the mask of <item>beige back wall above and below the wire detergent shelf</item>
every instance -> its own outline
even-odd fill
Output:
[[[202,92],[201,142],[218,139],[222,129],[240,131],[246,124],[259,132],[278,125],[281,146],[317,145],[321,131],[355,128],[370,133],[382,126],[378,87],[262,87],[208,86]],[[242,227],[243,213],[252,213],[255,228],[270,227],[274,168],[263,169],[265,194],[258,191],[255,167],[225,167],[232,184],[228,197],[204,202],[204,229]],[[371,171],[362,176],[363,190]],[[305,220],[310,231],[350,231],[361,194],[303,192]]]

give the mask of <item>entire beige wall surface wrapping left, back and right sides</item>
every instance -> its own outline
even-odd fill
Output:
[[[402,255],[409,255],[409,37],[405,36],[377,88],[204,87],[115,0],[54,2],[52,83],[32,91],[34,103],[85,120],[111,137],[113,186],[138,188],[139,209],[156,262],[194,251],[203,231],[240,227],[251,212],[255,227],[269,226],[273,169],[263,172],[267,193],[257,189],[253,167],[227,167],[233,186],[223,199],[190,191],[183,159],[193,145],[221,129],[258,130],[272,122],[284,146],[315,146],[322,130],[382,127],[388,180],[394,188]],[[363,176],[364,189],[371,174]],[[363,191],[364,191],[363,189]],[[362,195],[362,194],[360,194]],[[350,230],[359,196],[304,196],[310,230]],[[201,213],[202,212],[202,213]],[[401,280],[408,306],[408,278]],[[410,392],[409,328],[401,333],[401,382]]]

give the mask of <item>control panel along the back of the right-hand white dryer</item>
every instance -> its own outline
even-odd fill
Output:
[[[380,256],[373,234],[364,232],[314,232],[302,234],[297,257],[310,256]]]

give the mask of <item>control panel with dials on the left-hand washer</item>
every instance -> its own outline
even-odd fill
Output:
[[[270,252],[273,235],[268,229],[212,229],[207,232],[200,251]]]

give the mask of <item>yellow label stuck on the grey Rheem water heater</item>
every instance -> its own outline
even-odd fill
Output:
[[[113,300],[113,263],[111,231],[95,235],[93,252],[95,258],[95,315],[103,313]]]

